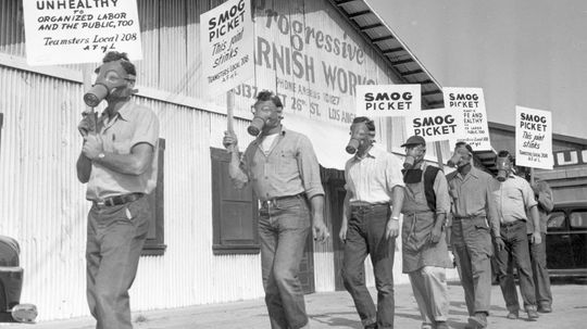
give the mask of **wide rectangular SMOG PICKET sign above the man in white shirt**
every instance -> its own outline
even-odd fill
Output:
[[[357,86],[358,116],[407,116],[421,110],[421,85]]]

